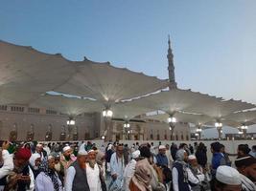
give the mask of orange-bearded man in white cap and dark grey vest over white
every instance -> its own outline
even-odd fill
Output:
[[[78,159],[67,169],[65,191],[90,190],[86,174],[86,156],[85,149],[81,149],[78,153]]]

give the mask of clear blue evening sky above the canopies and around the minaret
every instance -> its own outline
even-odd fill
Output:
[[[1,0],[0,39],[256,103],[255,0]]]

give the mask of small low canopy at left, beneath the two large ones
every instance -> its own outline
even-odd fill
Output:
[[[76,117],[82,113],[101,112],[103,110],[102,104],[97,101],[52,95],[40,96],[30,106],[55,110],[70,117]]]

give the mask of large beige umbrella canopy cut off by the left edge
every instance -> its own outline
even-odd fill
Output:
[[[25,97],[35,99],[53,90],[75,72],[74,64],[60,54],[40,53],[0,40],[1,95],[13,97],[13,103],[26,102]],[[1,104],[6,103],[2,100]]]

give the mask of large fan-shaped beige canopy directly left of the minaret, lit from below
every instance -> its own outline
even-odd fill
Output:
[[[144,96],[168,86],[167,80],[116,68],[109,63],[97,63],[85,59],[76,62],[78,73],[56,92],[92,97],[107,104],[136,96]]]

